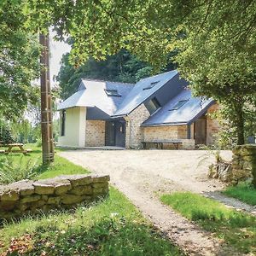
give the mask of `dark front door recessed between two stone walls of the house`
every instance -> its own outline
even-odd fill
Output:
[[[105,145],[125,147],[125,121],[106,121]]]

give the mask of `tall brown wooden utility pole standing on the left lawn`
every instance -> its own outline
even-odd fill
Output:
[[[52,129],[52,100],[49,78],[49,33],[39,35],[42,46],[40,55],[41,64],[41,133],[43,164],[48,165],[54,161],[54,141]]]

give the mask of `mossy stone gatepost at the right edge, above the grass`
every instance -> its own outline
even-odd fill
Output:
[[[256,188],[256,144],[240,145],[233,149],[232,174],[237,181],[253,178]]]

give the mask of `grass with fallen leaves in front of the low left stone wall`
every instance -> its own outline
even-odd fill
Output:
[[[4,224],[0,254],[8,248],[25,255],[183,255],[113,188],[91,207]]]

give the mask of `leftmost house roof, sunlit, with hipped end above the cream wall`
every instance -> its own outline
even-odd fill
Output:
[[[79,90],[58,106],[58,110],[73,107],[99,108],[109,116],[119,108],[134,84],[83,79]],[[117,90],[120,96],[108,96],[105,90]]]

